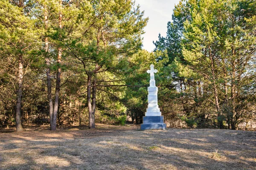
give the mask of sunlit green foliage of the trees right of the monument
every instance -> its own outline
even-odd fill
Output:
[[[155,51],[167,51],[165,67],[180,84],[181,95],[171,101],[182,106],[178,114],[198,125],[213,122],[209,127],[217,119],[219,127],[223,122],[232,129],[251,119],[243,111],[254,109],[255,88],[247,83],[255,74],[255,16],[253,0],[183,0],[175,6],[167,36],[154,44]]]

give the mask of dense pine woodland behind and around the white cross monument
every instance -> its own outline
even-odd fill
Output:
[[[152,52],[134,4],[0,0],[1,128],[140,124],[153,63],[169,126],[253,130],[256,1],[180,0]]]

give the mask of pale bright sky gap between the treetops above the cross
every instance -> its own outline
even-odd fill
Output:
[[[148,24],[144,28],[143,48],[153,51],[155,46],[153,41],[158,40],[158,34],[166,37],[167,23],[172,21],[172,12],[175,4],[180,0],[135,0],[136,5],[140,5],[140,10],[144,11],[144,17],[149,17]]]

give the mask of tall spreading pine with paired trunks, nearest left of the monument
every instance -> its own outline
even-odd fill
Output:
[[[120,78],[127,57],[141,47],[140,35],[148,19],[143,19],[139,7],[132,9],[134,2],[130,0],[90,1],[90,4],[91,20],[81,23],[83,37],[73,41],[69,48],[87,75],[89,128],[95,128],[97,87],[116,86],[108,84]]]

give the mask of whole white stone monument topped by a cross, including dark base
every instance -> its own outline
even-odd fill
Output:
[[[163,116],[161,116],[160,108],[157,104],[157,91],[156,82],[154,80],[154,73],[157,70],[154,69],[154,65],[150,65],[150,70],[147,73],[150,74],[150,81],[148,87],[148,108],[145,116],[143,116],[143,124],[140,125],[141,130],[147,129],[166,129],[166,123],[164,123]]]

